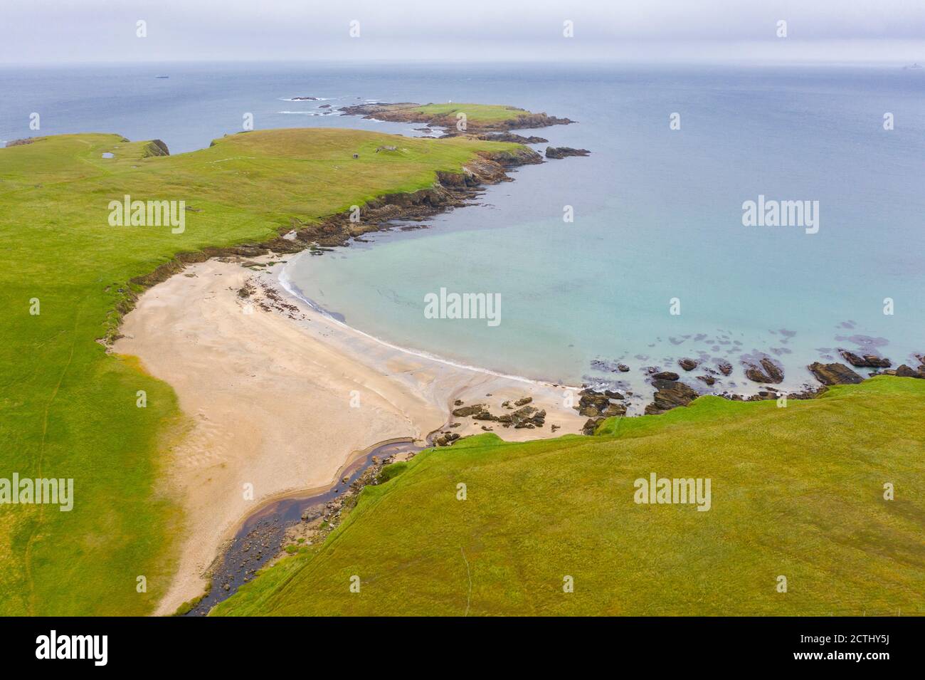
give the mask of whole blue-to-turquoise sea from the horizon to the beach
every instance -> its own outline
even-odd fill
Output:
[[[257,130],[425,134],[337,110],[372,102],[542,111],[576,122],[517,130],[549,140],[537,151],[590,151],[290,259],[293,291],[378,339],[573,385],[639,389],[657,368],[740,392],[758,389],[744,368],[761,358],[796,389],[839,350],[894,365],[925,352],[925,70],[902,64],[0,67],[0,141],[116,132],[176,155],[247,114]],[[783,204],[788,223],[749,221],[749,202]],[[441,289],[492,296],[497,323],[425,314]],[[721,362],[732,376],[695,379]]]

